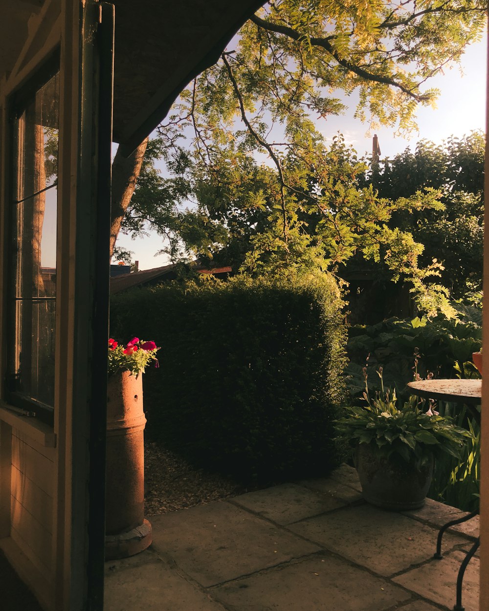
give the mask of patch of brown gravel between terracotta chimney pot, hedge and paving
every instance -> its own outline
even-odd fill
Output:
[[[248,489],[221,475],[194,469],[154,442],[144,443],[145,515],[228,499]]]

